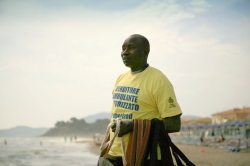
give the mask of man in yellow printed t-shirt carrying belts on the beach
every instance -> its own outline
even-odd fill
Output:
[[[111,121],[122,118],[118,136],[125,137],[125,147],[128,145],[129,133],[133,130],[133,119],[160,118],[168,133],[180,131],[182,112],[173,86],[161,71],[148,65],[149,51],[148,40],[138,34],[129,36],[122,45],[121,57],[130,71],[120,75],[115,83]],[[112,127],[111,138],[115,128]],[[120,166],[121,156],[120,139],[116,138],[107,159]]]

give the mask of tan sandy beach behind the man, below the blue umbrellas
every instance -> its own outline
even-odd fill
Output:
[[[88,142],[90,151],[99,155],[99,147],[94,142]],[[250,151],[241,150],[232,153],[229,149],[202,147],[198,145],[176,144],[176,146],[196,166],[250,166]]]

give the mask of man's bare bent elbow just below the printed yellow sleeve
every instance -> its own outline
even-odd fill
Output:
[[[163,123],[168,133],[179,132],[181,129],[181,114],[166,117],[163,119]]]

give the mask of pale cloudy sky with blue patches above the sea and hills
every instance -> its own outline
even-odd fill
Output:
[[[0,0],[0,129],[110,112],[131,34],[183,115],[250,107],[248,0]]]

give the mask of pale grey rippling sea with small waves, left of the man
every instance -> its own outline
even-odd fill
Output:
[[[0,137],[0,166],[96,166],[89,138]],[[6,142],[5,142],[6,141]]]

